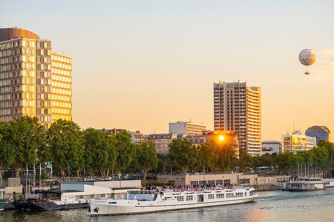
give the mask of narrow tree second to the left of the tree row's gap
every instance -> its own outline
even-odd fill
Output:
[[[116,134],[116,162],[121,164],[121,168],[125,170],[136,156],[134,144],[131,143],[131,134],[128,132],[120,132]],[[118,164],[117,164],[118,165]],[[116,167],[116,172],[120,176],[120,169]]]

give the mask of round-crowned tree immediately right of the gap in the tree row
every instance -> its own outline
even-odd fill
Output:
[[[173,139],[169,144],[169,153],[173,156],[175,162],[179,164],[183,173],[187,173],[189,167],[193,166],[197,160],[197,147],[186,138]]]

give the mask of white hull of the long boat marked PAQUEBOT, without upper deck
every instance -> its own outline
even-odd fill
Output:
[[[184,201],[188,203],[182,204],[171,204],[167,205],[162,203],[161,206],[154,206],[156,204],[155,201],[135,201],[129,200],[126,205],[118,205],[118,204],[109,204],[109,202],[117,202],[117,199],[109,199],[109,200],[96,200],[91,199],[89,201],[91,215],[119,215],[119,214],[138,214],[138,213],[148,213],[148,212],[157,212],[157,211],[170,211],[170,210],[179,210],[179,209],[189,209],[189,208],[197,208],[197,207],[209,207],[209,206],[220,206],[220,205],[229,205],[229,204],[240,204],[240,203],[248,203],[255,200],[255,198],[259,197],[259,195],[253,195],[249,197],[242,197],[240,199],[235,198],[224,198],[221,201],[211,201],[205,200],[204,202],[194,202],[194,201]],[[155,202],[155,203],[153,203]],[[140,203],[140,205],[135,205]],[[159,204],[159,203],[158,203]]]

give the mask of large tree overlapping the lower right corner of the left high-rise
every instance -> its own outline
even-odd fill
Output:
[[[59,167],[63,180],[68,165],[75,169],[79,178],[84,165],[82,134],[78,124],[62,119],[53,122],[47,131],[49,147],[45,153],[49,153],[52,164]]]

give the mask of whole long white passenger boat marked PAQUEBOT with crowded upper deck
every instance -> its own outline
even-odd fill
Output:
[[[231,189],[228,192],[223,189],[215,192],[212,189],[209,193],[204,193],[201,189],[181,189],[179,194],[173,194],[172,190],[129,190],[122,198],[90,199],[89,211],[92,216],[137,214],[248,203],[259,197],[258,193],[252,192],[254,191],[252,187]]]

